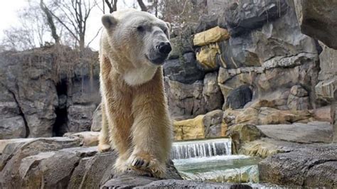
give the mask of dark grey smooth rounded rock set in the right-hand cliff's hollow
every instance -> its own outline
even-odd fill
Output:
[[[241,85],[232,90],[227,97],[225,108],[240,109],[252,100],[252,90],[248,85]]]

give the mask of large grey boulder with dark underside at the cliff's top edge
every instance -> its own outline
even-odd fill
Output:
[[[225,20],[231,36],[239,36],[264,23],[274,21],[286,13],[289,8],[287,1],[237,1],[227,7]]]

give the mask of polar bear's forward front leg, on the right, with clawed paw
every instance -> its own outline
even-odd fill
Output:
[[[164,178],[166,161],[171,151],[172,134],[164,86],[159,76],[139,87],[137,95],[134,96],[134,148],[127,163],[135,170],[151,173],[156,178]]]

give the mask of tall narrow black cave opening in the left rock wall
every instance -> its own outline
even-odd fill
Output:
[[[68,132],[68,111],[67,111],[67,80],[61,80],[56,85],[58,92],[58,107],[55,109],[56,119],[53,125],[53,136],[63,136]]]

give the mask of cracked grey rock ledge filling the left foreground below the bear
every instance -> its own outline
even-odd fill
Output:
[[[104,185],[110,188],[127,185],[127,182],[139,186],[148,184],[141,183],[141,180],[158,180],[135,171],[127,171],[122,175],[114,173],[114,161],[117,158],[115,151],[97,153],[97,146],[78,147],[82,145],[80,141],[76,137],[4,141],[6,147],[0,156],[1,186],[101,188]],[[181,179],[172,161],[167,163],[166,179]]]

